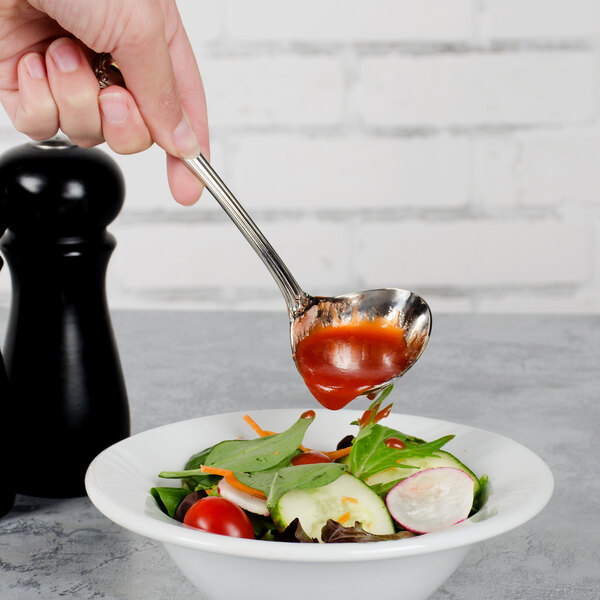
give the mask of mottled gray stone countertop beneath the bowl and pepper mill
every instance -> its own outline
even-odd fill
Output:
[[[0,313],[2,330],[5,322]],[[316,406],[292,363],[283,311],[122,311],[113,324],[133,433],[217,412]],[[600,598],[599,316],[438,316],[393,399],[397,412],[515,439],[555,477],[545,510],[475,546],[432,600]],[[201,600],[162,547],[87,498],[18,496],[0,520],[2,600],[183,597]]]

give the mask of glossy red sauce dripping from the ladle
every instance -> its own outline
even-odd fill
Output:
[[[404,331],[367,321],[320,327],[296,346],[296,364],[312,395],[338,410],[409,363]]]

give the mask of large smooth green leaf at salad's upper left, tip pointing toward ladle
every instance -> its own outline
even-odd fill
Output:
[[[298,449],[313,419],[300,417],[289,429],[255,440],[221,442],[213,447],[204,464],[245,473],[275,467]]]

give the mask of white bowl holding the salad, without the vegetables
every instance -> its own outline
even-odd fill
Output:
[[[298,409],[246,411],[271,431],[287,429]],[[360,411],[315,411],[305,445],[333,449],[356,427]],[[535,516],[553,490],[550,469],[533,452],[505,437],[446,421],[392,413],[385,424],[433,440],[456,434],[444,449],[477,475],[490,477],[483,508],[443,531],[404,540],[366,544],[292,544],[206,533],[169,519],[149,494],[162,470],[216,442],[254,437],[244,413],[191,419],[139,433],[102,452],[90,465],[86,489],[98,510],[135,533],[162,542],[205,600],[424,600],[454,572],[469,546],[509,531]],[[377,561],[377,564],[374,564]]]

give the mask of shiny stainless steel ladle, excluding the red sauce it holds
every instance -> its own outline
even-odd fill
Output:
[[[396,288],[385,288],[344,294],[342,296],[310,296],[302,290],[277,252],[252,221],[242,205],[201,154],[182,159],[189,170],[204,183],[223,210],[254,248],[277,282],[290,317],[290,341],[296,360],[296,346],[315,327],[331,323],[385,319],[401,328],[408,347],[408,362],[402,371],[387,381],[364,392],[370,395],[393,383],[421,356],[431,332],[431,311],[418,295]]]

